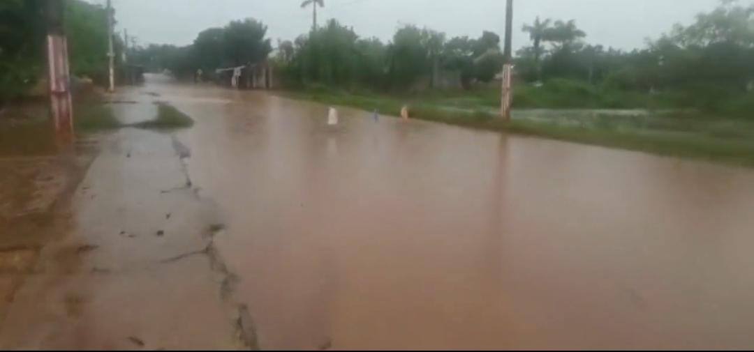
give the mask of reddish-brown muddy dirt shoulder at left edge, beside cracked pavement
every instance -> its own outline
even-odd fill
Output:
[[[42,248],[72,226],[69,202],[96,153],[93,143],[81,140],[66,153],[0,156],[0,321]]]

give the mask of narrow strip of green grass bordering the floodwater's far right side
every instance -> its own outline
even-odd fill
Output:
[[[357,96],[333,91],[300,91],[284,93],[293,99],[311,100],[329,105],[342,105],[366,111],[377,110],[381,114],[397,116],[403,104],[411,108],[411,117],[431,120],[475,129],[513,132],[523,135],[536,135],[562,141],[595,144],[627,150],[639,150],[667,156],[682,156],[709,159],[734,165],[754,166],[754,135],[725,138],[707,132],[688,132],[673,129],[659,129],[654,126],[626,129],[602,123],[597,126],[563,125],[553,121],[514,119],[510,122],[495,117],[489,108],[449,109],[440,105],[441,99],[401,100],[388,96]],[[454,98],[457,99],[457,98]],[[458,106],[450,104],[450,106]],[[667,117],[664,123],[682,126],[688,123],[687,117]],[[697,118],[697,117],[695,117]],[[670,120],[676,119],[676,120]],[[737,124],[735,120],[731,123]],[[743,137],[743,138],[742,138]]]

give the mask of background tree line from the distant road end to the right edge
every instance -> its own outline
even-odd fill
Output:
[[[323,5],[302,4],[314,10]],[[751,105],[754,111],[754,5],[723,0],[694,23],[673,26],[648,40],[646,47],[630,51],[588,44],[588,34],[575,20],[536,18],[522,30],[531,41],[514,57],[519,85],[657,94],[675,105]],[[265,34],[266,27],[256,20],[235,21],[201,32],[188,47],[151,46],[139,55],[152,67],[179,74],[197,68],[210,71],[268,58],[272,48]],[[488,87],[503,62],[500,37],[494,32],[449,38],[413,25],[400,27],[383,42],[329,20],[322,26],[313,23],[310,32],[293,41],[277,41],[276,47],[269,59],[286,86],[421,90],[437,86],[443,74],[452,72],[458,74],[461,87],[474,90]]]

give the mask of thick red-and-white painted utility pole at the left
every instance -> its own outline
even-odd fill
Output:
[[[47,56],[50,114],[55,134],[63,141],[73,138],[73,104],[71,102],[68,66],[68,41],[66,40],[64,0],[47,0]]]

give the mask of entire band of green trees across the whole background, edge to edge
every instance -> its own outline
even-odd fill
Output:
[[[0,101],[17,96],[44,76],[39,45],[44,42],[42,4],[0,2]],[[313,14],[323,5],[320,0],[302,3],[311,6]],[[106,10],[68,0],[66,27],[72,73],[104,81]],[[537,18],[521,30],[531,41],[514,57],[516,84],[526,89],[541,86],[539,96],[643,94],[694,108],[754,111],[754,5],[722,0],[693,23],[673,26],[645,47],[630,51],[588,44],[588,34],[574,20]],[[123,47],[117,35],[115,47]],[[167,69],[178,77],[191,77],[198,68],[212,72],[266,59],[286,86],[319,84],[378,92],[442,86],[448,74],[464,90],[485,89],[503,62],[500,37],[494,32],[448,37],[413,25],[401,26],[391,40],[381,41],[363,38],[337,20],[320,26],[313,20],[310,32],[293,41],[277,41],[275,47],[264,23],[245,19],[206,29],[188,46],[133,47],[128,57],[151,71]],[[514,105],[525,101],[514,99]]]

